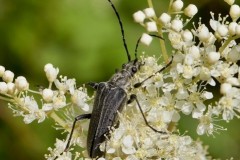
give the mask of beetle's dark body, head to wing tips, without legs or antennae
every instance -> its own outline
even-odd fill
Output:
[[[109,81],[91,83],[96,89],[87,139],[87,150],[91,158],[103,155],[99,145],[106,139],[109,127],[116,121],[117,112],[121,112],[126,104],[125,89],[140,65],[141,63],[135,59],[123,65],[122,70],[114,74]]]

